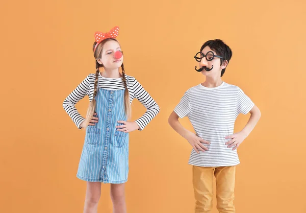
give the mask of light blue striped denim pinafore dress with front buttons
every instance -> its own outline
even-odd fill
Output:
[[[88,126],[77,177],[103,183],[124,183],[129,173],[129,133],[116,130],[126,121],[124,90],[97,88],[98,123]]]

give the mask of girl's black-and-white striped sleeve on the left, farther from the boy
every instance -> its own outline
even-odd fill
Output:
[[[89,76],[87,76],[78,86],[75,88],[69,96],[64,100],[63,107],[67,114],[71,117],[72,121],[79,129],[80,124],[85,121],[85,118],[79,113],[75,104],[77,104],[81,99],[89,94]]]

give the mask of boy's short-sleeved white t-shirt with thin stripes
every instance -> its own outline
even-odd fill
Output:
[[[238,114],[247,114],[253,106],[238,86],[225,82],[213,88],[199,84],[188,89],[174,112],[181,118],[188,116],[196,134],[210,142],[204,144],[208,151],[198,154],[192,149],[188,163],[199,167],[239,164],[237,150],[227,148],[225,137],[234,133]]]

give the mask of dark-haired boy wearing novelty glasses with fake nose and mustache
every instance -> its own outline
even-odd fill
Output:
[[[233,204],[235,170],[239,164],[237,148],[260,119],[261,112],[244,92],[221,80],[232,57],[232,50],[222,40],[205,42],[194,57],[206,76],[205,82],[188,89],[169,116],[170,126],[188,140],[193,150],[195,213],[211,212],[213,176],[217,185],[217,209],[220,213],[235,212]],[[233,134],[239,113],[250,112],[242,131]],[[179,117],[188,116],[196,134],[186,130]]]

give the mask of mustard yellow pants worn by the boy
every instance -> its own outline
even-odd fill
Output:
[[[219,213],[234,213],[235,171],[233,167],[196,167],[193,165],[195,213],[209,213],[213,208],[213,180],[216,177]]]

